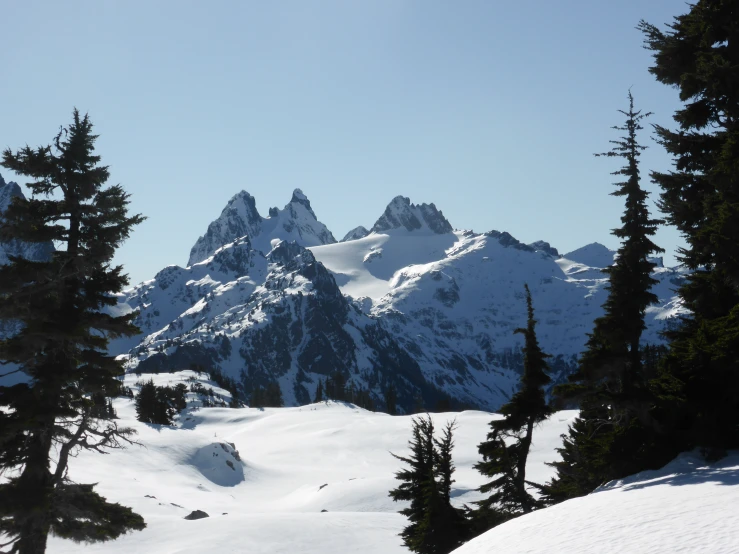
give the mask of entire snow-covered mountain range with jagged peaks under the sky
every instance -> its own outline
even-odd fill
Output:
[[[543,348],[561,380],[602,313],[614,252],[591,244],[559,256],[544,241],[507,232],[454,231],[433,204],[398,196],[367,231],[337,243],[295,191],[262,218],[241,192],[198,239],[186,268],[171,266],[120,297],[143,334],[117,341],[130,369],[218,366],[245,391],[279,382],[289,404],[314,397],[318,380],[343,373],[381,400],[393,383],[410,408],[420,392],[495,409],[515,391],[534,298]],[[659,302],[645,342],[681,313],[681,269],[658,267]]]

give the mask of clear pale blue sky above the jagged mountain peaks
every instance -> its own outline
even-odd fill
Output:
[[[618,161],[593,157],[677,91],[635,29],[678,0],[0,0],[0,147],[48,144],[88,112],[113,183],[148,217],[119,250],[133,282],[187,262],[245,189],[266,215],[303,189],[340,239],[402,194],[453,226],[567,252],[615,248]],[[652,140],[648,170],[670,167]],[[6,180],[23,179],[2,171]],[[656,242],[674,263],[680,237]]]

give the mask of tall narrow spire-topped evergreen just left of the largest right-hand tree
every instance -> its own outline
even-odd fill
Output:
[[[611,141],[611,151],[596,154],[625,160],[613,173],[624,180],[611,193],[625,203],[622,226],[613,230],[621,246],[614,265],[604,270],[610,277],[604,314],[594,322],[570,383],[555,389],[558,396],[579,401],[581,413],[559,450],[562,461],[552,464],[557,476],[545,487],[550,501],[587,494],[605,481],[667,461],[657,446],[654,398],[639,344],[646,309],[657,301],[649,257],[663,252],[650,238],[661,221],[650,217],[648,193],[640,186],[639,156],[646,147],[637,132],[650,114],[635,111],[631,91],[628,98],[629,110],[619,110],[626,123],[614,127],[624,136]]]

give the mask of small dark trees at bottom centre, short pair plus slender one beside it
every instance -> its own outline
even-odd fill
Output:
[[[413,552],[446,554],[471,537],[543,505],[527,488],[541,485],[526,479],[526,461],[534,427],[552,413],[544,392],[550,381],[546,362],[549,356],[539,347],[527,285],[525,290],[527,325],[516,330],[524,335],[521,388],[500,409],[503,418],[490,423],[487,439],[478,446],[482,461],[475,468],[489,479],[479,491],[488,496],[474,508],[460,510],[451,506],[453,422],[447,424],[442,439],[437,441],[428,415],[414,419],[411,455],[406,458],[393,454],[409,466],[396,474],[402,483],[390,491],[390,497],[410,502],[408,508],[401,510],[409,520],[401,536]]]

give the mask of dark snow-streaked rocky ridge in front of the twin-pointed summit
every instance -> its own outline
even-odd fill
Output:
[[[393,383],[409,406],[418,391],[429,402],[439,397],[413,358],[295,242],[265,256],[241,239],[204,263],[165,268],[120,302],[139,312],[145,333],[113,345],[130,352],[131,369],[218,366],[245,391],[279,382],[290,405],[310,402],[318,379],[337,372],[378,396]]]

